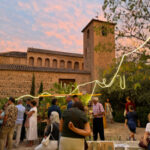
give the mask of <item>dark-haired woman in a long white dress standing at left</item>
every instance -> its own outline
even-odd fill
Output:
[[[30,103],[31,109],[27,113],[27,117],[29,118],[29,127],[27,128],[27,140],[29,141],[28,146],[33,146],[33,141],[38,138],[37,136],[37,107],[36,102],[32,101]]]

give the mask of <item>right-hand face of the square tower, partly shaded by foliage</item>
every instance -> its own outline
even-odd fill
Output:
[[[94,67],[92,68],[93,78],[99,78],[100,69],[108,68],[115,58],[115,34],[113,24],[94,22],[94,27],[101,28],[100,33],[94,32],[93,52]],[[102,35],[102,27],[106,27],[106,35]],[[99,46],[98,46],[99,45]]]

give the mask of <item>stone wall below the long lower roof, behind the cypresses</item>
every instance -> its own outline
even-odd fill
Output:
[[[53,83],[59,82],[59,79],[75,79],[80,83],[90,80],[90,74],[80,73],[61,73],[61,72],[34,72],[36,93],[39,90],[41,81],[43,81],[44,91],[52,88]],[[22,96],[30,94],[33,72],[30,71],[0,71],[0,97]],[[90,91],[90,85],[81,89]]]

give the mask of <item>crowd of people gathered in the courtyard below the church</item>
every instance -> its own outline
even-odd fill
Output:
[[[130,130],[129,140],[135,140],[136,114],[135,104],[126,98],[125,104],[125,126]],[[16,101],[10,97],[8,103],[0,110],[0,150],[7,148],[12,149],[12,146],[18,147],[20,141],[25,138],[28,141],[27,146],[31,147],[34,141],[38,139],[37,128],[37,103],[34,100],[26,100],[26,105],[23,106],[23,101]],[[101,140],[105,140],[103,117],[113,123],[113,109],[110,100],[107,99],[105,109],[99,102],[98,97],[92,97],[89,107],[92,111],[92,130],[89,119],[85,112],[81,100],[77,95],[66,97],[67,109],[62,113],[56,98],[52,99],[51,106],[48,108],[47,126],[44,131],[44,139],[47,137],[50,141],[54,141],[60,150],[84,150],[87,149],[85,137],[91,136],[93,140],[98,140],[98,135]],[[144,134],[144,142],[146,143],[149,133],[150,124],[147,124]],[[14,134],[16,133],[16,134]],[[13,144],[13,137],[15,142]],[[148,144],[148,143],[147,143]],[[42,148],[41,146],[39,149]],[[51,147],[52,148],[52,147]],[[55,149],[54,148],[54,149]],[[38,148],[37,148],[38,149]],[[46,147],[45,147],[46,149]]]

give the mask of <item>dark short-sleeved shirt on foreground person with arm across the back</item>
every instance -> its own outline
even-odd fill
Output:
[[[68,128],[68,123],[71,121],[75,127],[79,129],[84,129],[85,123],[88,122],[85,112],[79,110],[78,108],[70,108],[64,111],[63,115],[63,137],[72,137],[72,138],[84,138],[84,136],[79,135]]]

